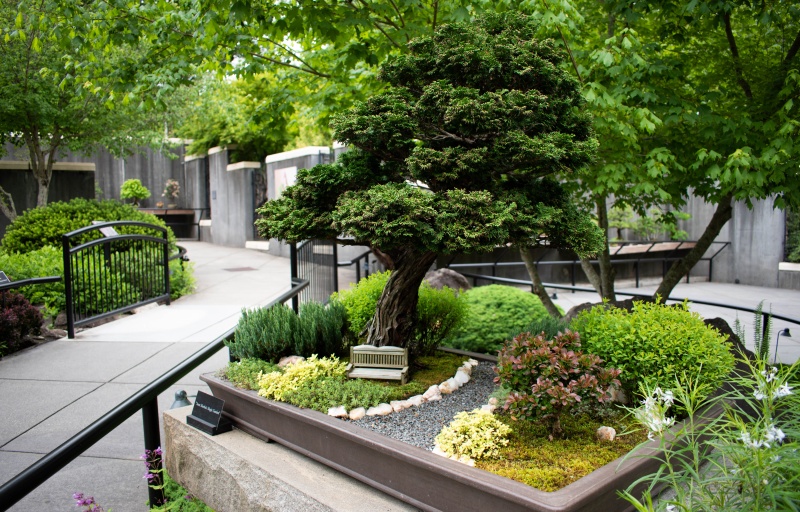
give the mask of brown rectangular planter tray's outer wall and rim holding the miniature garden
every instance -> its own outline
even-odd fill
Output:
[[[201,379],[225,400],[223,414],[237,428],[281,443],[422,510],[628,511],[633,507],[617,491],[659,466],[651,458],[618,459],[563,489],[544,492],[317,411],[266,400],[211,374]]]

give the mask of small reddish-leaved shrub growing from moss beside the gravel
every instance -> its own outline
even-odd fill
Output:
[[[619,387],[620,371],[604,368],[593,354],[580,350],[577,332],[565,331],[548,340],[522,333],[498,354],[497,380],[511,389],[503,409],[514,419],[547,420],[559,437],[561,415],[585,399],[604,403]]]

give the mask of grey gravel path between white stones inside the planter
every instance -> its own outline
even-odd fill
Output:
[[[354,425],[404,443],[433,450],[434,439],[461,411],[480,408],[495,390],[492,363],[481,362],[472,370],[472,378],[455,393],[442,395],[436,402],[425,402],[386,416],[367,416]]]

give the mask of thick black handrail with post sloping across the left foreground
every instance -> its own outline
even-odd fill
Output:
[[[292,279],[292,288],[273,300],[266,307],[282,304],[293,299],[302,290],[309,286],[306,280]],[[80,431],[69,441],[48,453],[30,467],[16,475],[0,486],[0,510],[8,510],[19,500],[30,494],[34,489],[43,484],[48,478],[58,473],[64,466],[72,462],[95,443],[120,426],[124,421],[133,416],[137,411],[142,411],[144,425],[144,448],[155,450],[161,446],[161,433],[159,430],[158,395],[178,382],[179,379],[197,368],[201,363],[216,354],[225,346],[225,341],[233,336],[235,327],[222,336],[189,356],[183,362],[164,373],[158,379],[150,382],[141,390],[131,395],[127,400],[104,414],[100,419]],[[157,461],[161,469],[161,461]],[[151,470],[151,471],[152,471]],[[148,488],[150,503],[163,502],[163,490]]]

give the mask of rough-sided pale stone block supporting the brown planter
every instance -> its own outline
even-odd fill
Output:
[[[240,430],[208,436],[164,413],[167,473],[218,512],[411,511],[338,471]]]

